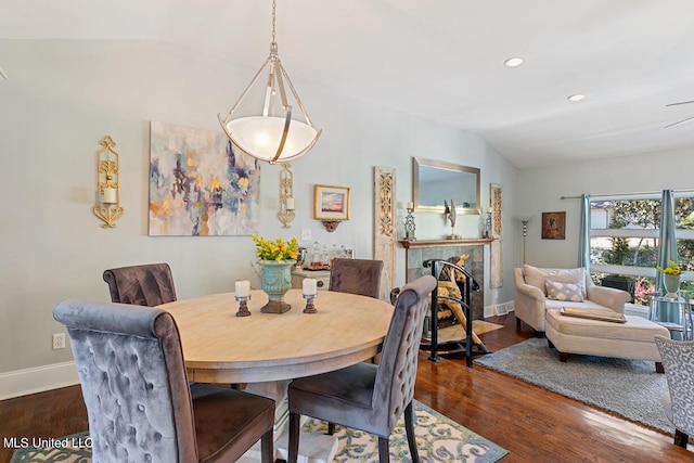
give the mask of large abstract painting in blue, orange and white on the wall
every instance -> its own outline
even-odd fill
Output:
[[[221,132],[150,125],[150,235],[258,233],[260,166]]]

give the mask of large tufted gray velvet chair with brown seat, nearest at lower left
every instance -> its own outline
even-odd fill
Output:
[[[89,415],[94,462],[230,462],[261,440],[273,460],[274,401],[208,384],[189,387],[166,311],[60,303]]]

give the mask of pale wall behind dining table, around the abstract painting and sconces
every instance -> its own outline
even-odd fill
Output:
[[[256,69],[140,41],[4,40],[0,59],[10,76],[0,82],[0,374],[70,360],[69,349],[51,350],[51,333],[64,331],[51,310],[66,298],[108,300],[101,278],[106,268],[168,261],[179,298],[232,291],[236,279],[257,281],[247,236],[146,234],[149,121],[218,130],[217,113],[229,110]],[[517,171],[505,158],[468,132],[333,89],[294,85],[323,136],[293,164],[297,217],[290,230],[275,217],[280,168],[264,166],[261,234],[299,236],[309,229],[313,240],[371,257],[374,166],[397,169],[399,207],[411,201],[412,156],[479,167],[483,204],[489,183],[503,184],[507,218],[505,284],[486,291],[486,305],[512,300],[510,269],[519,259],[519,229],[512,220]],[[102,229],[91,213],[95,152],[106,134],[121,154],[126,209],[113,230]],[[332,234],[311,219],[314,183],[351,188],[351,220]],[[420,239],[449,230],[438,215],[416,220]],[[459,218],[457,232],[478,236],[478,217]],[[402,249],[397,271],[400,285]]]

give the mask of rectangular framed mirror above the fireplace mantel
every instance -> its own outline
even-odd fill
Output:
[[[414,210],[444,214],[444,200],[458,214],[480,214],[479,169],[442,160],[412,158]]]

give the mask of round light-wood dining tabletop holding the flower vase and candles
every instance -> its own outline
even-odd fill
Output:
[[[189,381],[260,383],[338,370],[374,357],[394,307],[372,297],[319,291],[317,313],[304,313],[301,290],[290,290],[284,313],[262,313],[262,291],[252,291],[250,316],[236,317],[234,293],[157,306],[178,325]]]

